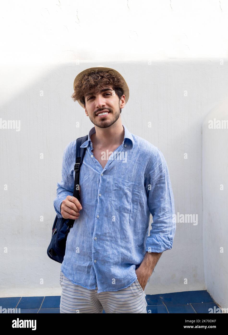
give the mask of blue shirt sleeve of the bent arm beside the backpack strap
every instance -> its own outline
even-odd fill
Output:
[[[74,142],[74,141],[73,141]],[[74,177],[71,169],[72,159],[75,160],[75,154],[73,155],[73,142],[70,142],[65,150],[63,151],[62,158],[62,180],[57,183],[56,198],[54,200],[54,209],[58,217],[62,217],[60,212],[60,205],[68,195],[73,195],[74,190]]]

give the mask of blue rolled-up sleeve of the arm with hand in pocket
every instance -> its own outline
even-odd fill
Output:
[[[172,249],[176,219],[168,166],[158,148],[147,170],[145,188],[153,222],[150,236],[146,239],[146,251],[161,253]]]

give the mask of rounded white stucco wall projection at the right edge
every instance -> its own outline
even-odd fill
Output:
[[[226,120],[226,124],[221,120]],[[203,122],[202,131],[205,285],[218,304],[226,308],[228,303],[228,98],[208,113]]]

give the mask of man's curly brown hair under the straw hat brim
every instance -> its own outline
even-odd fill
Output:
[[[74,86],[74,93],[71,95],[74,101],[79,100],[85,106],[85,94],[88,92],[99,92],[100,89],[111,86],[121,99],[124,94],[124,81],[118,76],[115,76],[110,71],[91,70],[87,75],[82,77],[82,80]],[[121,110],[120,110],[121,113]]]

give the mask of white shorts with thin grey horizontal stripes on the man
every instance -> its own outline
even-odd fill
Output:
[[[147,313],[146,293],[138,279],[119,291],[97,293],[75,285],[60,271],[60,313]]]

